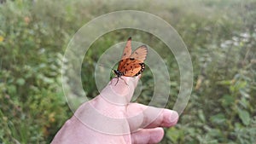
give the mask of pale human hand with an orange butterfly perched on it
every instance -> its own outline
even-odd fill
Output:
[[[139,77],[122,77],[118,84],[117,78],[113,78],[100,95],[79,107],[52,143],[160,142],[164,136],[162,127],[177,124],[178,114],[169,109],[130,103]]]

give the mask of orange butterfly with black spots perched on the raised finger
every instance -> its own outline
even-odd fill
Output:
[[[113,73],[115,74],[116,78],[118,78],[116,84],[119,82],[119,78],[121,78],[122,76],[135,77],[141,74],[145,69],[144,60],[146,60],[147,54],[148,48],[146,45],[138,47],[131,54],[131,37],[129,37],[125,45],[125,49],[121,57],[121,60],[119,60],[118,69],[113,70]]]

